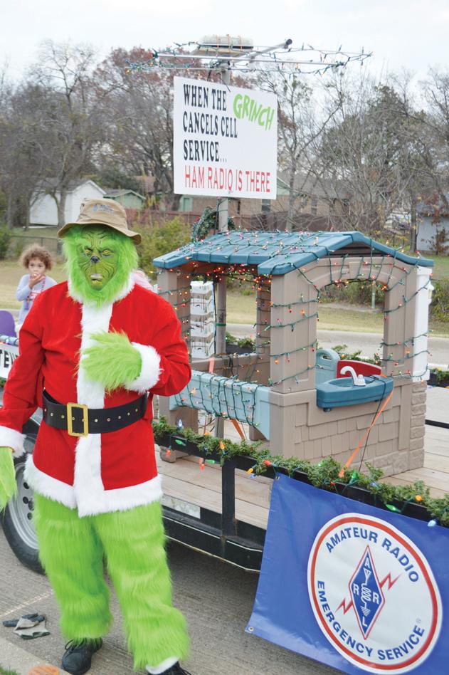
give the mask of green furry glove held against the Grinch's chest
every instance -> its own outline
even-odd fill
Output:
[[[92,339],[96,344],[83,351],[80,362],[88,380],[112,392],[139,377],[142,357],[124,333],[97,333]]]

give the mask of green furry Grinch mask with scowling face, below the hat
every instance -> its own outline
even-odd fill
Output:
[[[76,225],[63,237],[66,268],[75,295],[102,305],[112,302],[137,268],[130,237],[102,225]]]

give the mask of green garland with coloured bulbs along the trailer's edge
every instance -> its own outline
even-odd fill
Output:
[[[289,476],[295,471],[302,471],[307,474],[310,483],[317,488],[338,492],[337,486],[343,486],[343,493],[344,486],[364,488],[379,499],[379,502],[384,503],[391,511],[399,513],[403,511],[406,504],[412,502],[418,503],[420,506],[424,506],[430,517],[438,520],[440,525],[449,527],[449,493],[438,499],[432,498],[430,497],[430,489],[423,481],[415,481],[405,486],[381,483],[379,480],[383,472],[368,462],[366,462],[368,473],[345,469],[344,476],[339,478],[339,471],[342,469],[342,466],[332,457],[325,457],[318,464],[312,464],[307,459],[271,455],[268,449],[260,446],[260,441],[255,443],[248,443],[248,441],[233,443],[233,441],[229,441],[228,439],[204,436],[197,434],[196,431],[188,427],[179,429],[179,427],[167,424],[167,420],[164,417],[159,419],[159,421],[153,422],[153,431],[154,439],[157,442],[161,442],[167,436],[181,436],[182,439],[195,443],[206,456],[211,454],[218,455],[222,466],[225,461],[236,455],[250,457],[254,460],[252,473],[255,475],[265,473],[268,466],[272,466],[273,469],[282,469]],[[395,503],[398,505],[402,504],[403,508],[395,506]]]

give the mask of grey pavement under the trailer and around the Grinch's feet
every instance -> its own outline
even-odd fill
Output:
[[[21,640],[0,623],[0,637],[60,665],[64,640],[58,628],[58,608],[46,577],[16,560],[0,528],[0,622],[39,611],[46,614],[51,634]],[[310,661],[244,632],[250,617],[258,576],[243,572],[181,545],[169,545],[174,602],[189,623],[191,659],[184,666],[192,675],[329,675],[332,668]],[[116,619],[104,647],[94,657],[93,675],[132,673],[126,653],[117,600]],[[0,654],[1,665],[1,654]],[[19,664],[17,664],[19,665]]]

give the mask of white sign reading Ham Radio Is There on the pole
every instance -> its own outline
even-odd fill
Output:
[[[174,192],[276,198],[274,94],[174,78]]]

